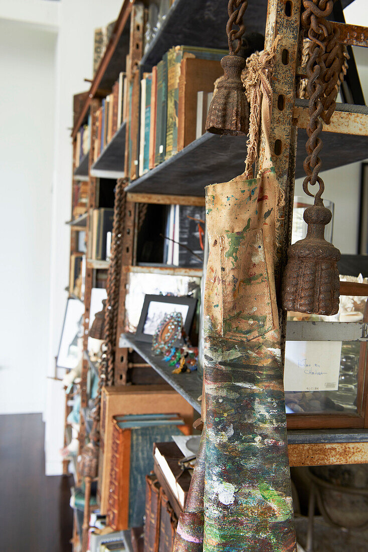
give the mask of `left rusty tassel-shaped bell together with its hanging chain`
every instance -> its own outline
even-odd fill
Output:
[[[223,77],[218,81],[206,120],[206,130],[212,134],[248,134],[249,104],[244,94],[241,74],[246,60],[238,56],[245,31],[243,15],[248,7],[248,0],[230,0],[228,3],[229,20],[226,25],[230,55],[221,60]],[[233,29],[233,25],[239,29]],[[237,40],[234,48],[233,42]]]

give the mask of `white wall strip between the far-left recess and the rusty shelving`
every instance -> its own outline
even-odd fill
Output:
[[[51,2],[53,3],[53,2]],[[73,94],[86,91],[92,78],[94,29],[118,17],[122,0],[61,0],[56,61],[54,185],[52,189],[49,373],[54,370],[64,317],[69,273]],[[47,380],[46,474],[60,473],[64,394]]]

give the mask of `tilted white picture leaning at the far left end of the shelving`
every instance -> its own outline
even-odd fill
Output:
[[[56,367],[72,370],[76,368],[81,352],[78,338],[83,336],[84,304],[79,299],[68,298],[56,358]]]

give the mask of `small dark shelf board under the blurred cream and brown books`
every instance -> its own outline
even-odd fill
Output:
[[[122,123],[105,147],[98,159],[93,163],[90,174],[98,178],[124,178],[126,124]]]

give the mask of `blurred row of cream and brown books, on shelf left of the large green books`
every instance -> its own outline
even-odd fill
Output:
[[[126,119],[127,79],[126,73],[120,72],[111,94],[102,100],[102,106],[96,113],[93,162],[97,160],[115,132]]]

